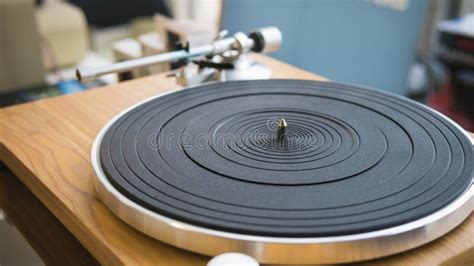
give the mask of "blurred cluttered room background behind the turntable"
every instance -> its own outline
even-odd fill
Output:
[[[0,0],[0,107],[169,71],[80,83],[75,69],[277,26],[270,56],[408,96],[474,130],[474,0]],[[0,213],[0,265],[41,264]]]

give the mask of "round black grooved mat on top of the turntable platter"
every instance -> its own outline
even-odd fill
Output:
[[[111,124],[99,159],[120,193],[158,214],[226,232],[318,237],[445,207],[470,185],[473,156],[461,129],[405,98],[261,80],[147,101]]]

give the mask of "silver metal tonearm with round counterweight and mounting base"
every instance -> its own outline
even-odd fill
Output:
[[[271,53],[280,48],[282,36],[276,27],[260,28],[249,34],[235,33],[225,37],[221,32],[212,43],[189,47],[138,59],[118,62],[111,65],[79,68],[76,70],[80,81],[92,80],[110,73],[121,73],[155,64],[179,62],[181,67],[173,75],[181,85],[202,83],[211,80],[266,79],[271,71],[258,62],[248,58],[249,52]],[[192,61],[191,61],[192,60]],[[191,64],[197,66],[189,67]]]

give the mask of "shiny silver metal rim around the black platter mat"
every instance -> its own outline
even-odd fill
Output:
[[[473,179],[456,200],[426,217],[383,230],[343,236],[290,238],[237,234],[184,223],[152,212],[125,197],[109,182],[99,163],[100,144],[105,132],[121,116],[141,104],[179,90],[182,88],[145,99],[120,112],[101,129],[91,151],[96,176],[94,186],[102,202],[127,224],[162,242],[208,256],[244,253],[260,263],[356,262],[400,253],[433,241],[461,224],[474,210]],[[444,118],[461,130],[474,145],[474,139],[450,118],[430,107],[414,103]]]

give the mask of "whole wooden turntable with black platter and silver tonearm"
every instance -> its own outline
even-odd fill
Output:
[[[247,54],[279,41],[267,29],[78,71],[201,56],[175,73],[198,85],[158,75],[0,111],[0,160],[103,264],[472,262],[470,137],[400,96],[265,79],[317,79]]]

